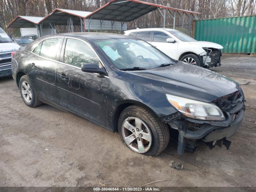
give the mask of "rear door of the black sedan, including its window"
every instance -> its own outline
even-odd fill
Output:
[[[64,38],[47,38],[28,55],[28,75],[39,96],[59,103],[57,90],[57,66]]]

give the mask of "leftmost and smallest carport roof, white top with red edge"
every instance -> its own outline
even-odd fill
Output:
[[[7,27],[10,28],[28,28],[35,27],[35,24],[38,24],[43,17],[31,17],[31,16],[16,16]]]

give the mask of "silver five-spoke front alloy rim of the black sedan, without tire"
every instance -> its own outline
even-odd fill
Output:
[[[152,144],[150,129],[145,122],[136,117],[124,120],[122,136],[127,146],[137,153],[146,153]]]

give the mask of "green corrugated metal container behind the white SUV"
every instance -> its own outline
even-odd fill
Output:
[[[224,53],[256,53],[256,16],[197,20],[194,38],[221,44]]]

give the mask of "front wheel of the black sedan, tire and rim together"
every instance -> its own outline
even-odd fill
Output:
[[[170,139],[168,126],[145,108],[136,105],[122,111],[118,119],[118,132],[122,142],[131,150],[149,156],[160,154]]]

